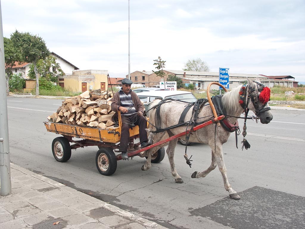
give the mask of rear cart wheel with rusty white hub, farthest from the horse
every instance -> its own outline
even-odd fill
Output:
[[[57,137],[52,141],[52,153],[56,161],[66,162],[71,157],[71,147],[68,139]]]

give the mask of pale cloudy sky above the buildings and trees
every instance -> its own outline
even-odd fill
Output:
[[[128,0],[1,0],[3,35],[39,35],[81,70],[128,74]],[[304,0],[130,0],[130,66],[291,75],[305,82]]]

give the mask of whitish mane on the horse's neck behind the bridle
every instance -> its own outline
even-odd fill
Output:
[[[236,111],[240,109],[239,104],[239,91],[241,89],[242,85],[239,85],[238,87],[234,88],[233,90],[224,93],[224,95],[221,98],[224,110],[227,114],[234,114]]]

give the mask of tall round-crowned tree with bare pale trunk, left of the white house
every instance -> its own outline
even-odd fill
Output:
[[[17,30],[11,35],[14,45],[20,50],[21,60],[23,62],[32,63],[36,77],[36,95],[39,96],[39,78],[37,70],[37,61],[45,60],[50,54],[45,41],[37,35],[30,33],[20,33]]]

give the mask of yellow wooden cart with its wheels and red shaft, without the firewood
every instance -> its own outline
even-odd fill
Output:
[[[122,159],[121,154],[118,152],[120,146],[122,120],[120,114],[118,116],[119,126],[105,129],[84,127],[79,125],[68,125],[55,122],[44,122],[48,132],[63,135],[62,137],[56,137],[52,141],[52,153],[56,161],[68,161],[71,157],[71,149],[77,149],[79,147],[86,146],[98,146],[99,151],[97,151],[95,157],[96,167],[99,170],[99,173],[102,175],[112,175],[117,169],[117,161]],[[197,129],[203,128],[206,125],[218,122],[223,118],[224,115],[219,117],[216,116],[214,119],[194,127],[193,130],[188,130],[187,133],[196,131]],[[127,151],[128,157],[138,156],[139,153],[143,151],[185,135],[185,132],[183,132],[141,149],[140,143],[134,143],[134,140],[139,137],[139,127],[136,125],[130,128],[129,133],[130,139]],[[74,140],[73,138],[81,138],[82,140]],[[70,145],[70,143],[72,144]],[[115,153],[119,154],[116,155]],[[152,155],[151,162],[161,162],[164,158],[164,155],[164,147],[161,147]]]

